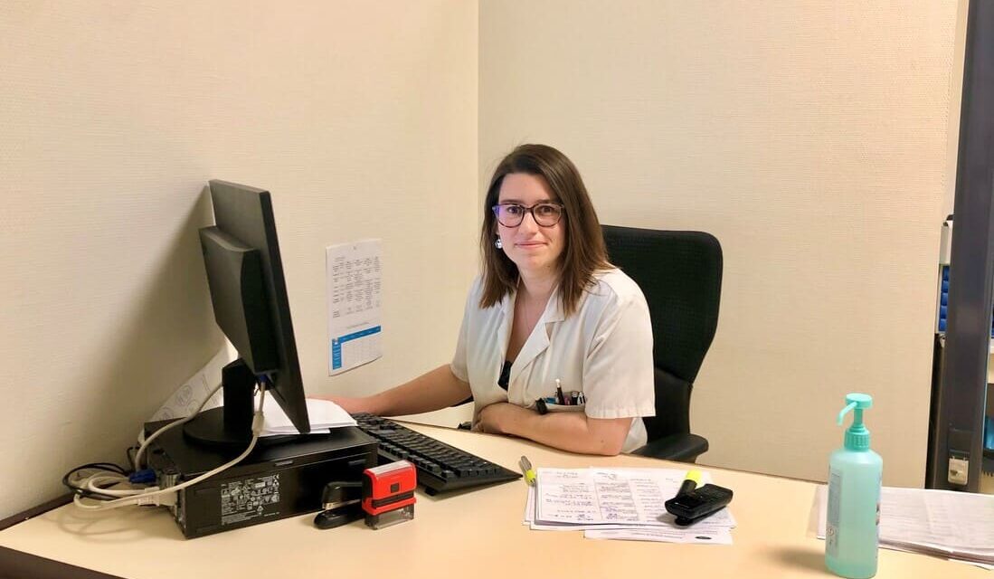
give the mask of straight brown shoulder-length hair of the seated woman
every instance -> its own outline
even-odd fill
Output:
[[[501,183],[511,173],[542,177],[564,206],[566,248],[559,259],[560,301],[563,312],[570,315],[580,305],[580,295],[589,286],[594,272],[610,268],[604,237],[597,214],[586,193],[580,171],[559,150],[542,144],[523,144],[508,153],[490,178],[483,201],[483,227],[480,250],[483,262],[483,291],[480,307],[489,307],[518,286],[518,267],[503,251],[494,247],[497,219],[491,208],[497,204]]]

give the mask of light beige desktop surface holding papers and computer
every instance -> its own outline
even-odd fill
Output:
[[[413,426],[514,469],[674,466],[640,457],[594,458],[502,437]],[[681,468],[676,466],[676,468]],[[361,521],[320,531],[313,515],[184,540],[162,509],[81,512],[72,505],[0,532],[0,546],[121,577],[832,577],[822,541],[808,535],[815,484],[718,469],[732,487],[735,544],[584,539],[522,524],[525,483],[441,497],[418,493],[414,521],[374,531]],[[982,569],[882,549],[887,577],[991,577]]]

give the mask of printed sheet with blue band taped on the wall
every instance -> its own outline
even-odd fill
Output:
[[[380,240],[330,246],[328,269],[328,375],[383,355],[380,326]]]

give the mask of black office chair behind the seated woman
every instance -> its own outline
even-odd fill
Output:
[[[638,284],[652,317],[656,416],[636,455],[694,463],[707,439],[690,432],[690,394],[718,327],[722,246],[711,234],[603,226],[609,261]]]

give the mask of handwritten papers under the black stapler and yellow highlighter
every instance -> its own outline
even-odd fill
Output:
[[[686,471],[673,469],[539,469],[529,490],[525,524],[538,530],[582,530],[593,539],[732,544],[728,508],[678,526],[664,503]],[[710,483],[707,473],[702,484]]]

